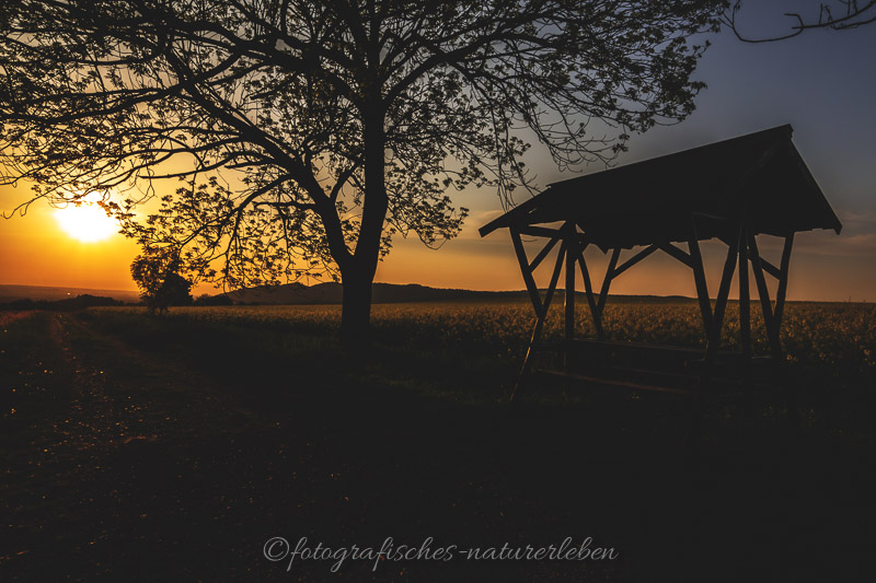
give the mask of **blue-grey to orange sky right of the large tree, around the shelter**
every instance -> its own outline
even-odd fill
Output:
[[[783,33],[793,24],[782,15],[788,2],[745,5],[740,25],[752,36]],[[791,2],[789,5],[812,2]],[[712,47],[695,78],[707,83],[696,110],[685,121],[635,136],[619,164],[791,124],[794,142],[843,222],[832,232],[804,233],[796,240],[789,298],[876,301],[876,24],[856,30],[809,31],[777,43],[746,44],[729,31],[710,37]],[[546,185],[574,176],[535,156],[530,166]],[[583,172],[597,172],[591,165]],[[459,240],[439,252],[418,241],[399,241],[378,271],[391,282],[474,289],[520,289],[510,242],[496,232],[481,240],[476,229],[502,212],[486,190],[454,200],[472,212]],[[708,247],[708,246],[706,246]],[[708,249],[707,249],[708,250]],[[774,252],[766,244],[765,252]],[[717,248],[707,254],[714,256]],[[589,257],[588,257],[589,258]],[[597,264],[602,258],[592,257]],[[690,276],[658,256],[639,272],[618,280],[618,293],[692,294]],[[715,279],[714,269],[711,271]],[[714,285],[713,285],[714,288]]]

